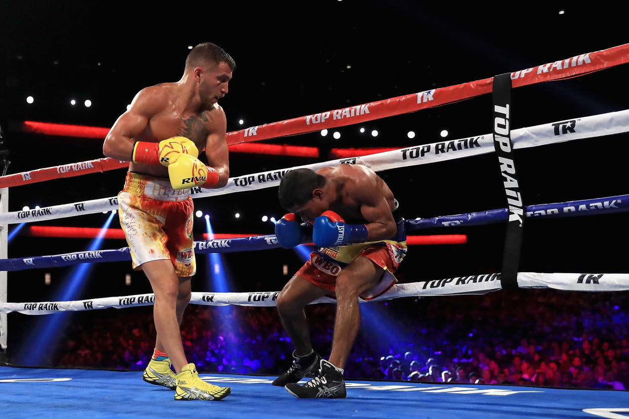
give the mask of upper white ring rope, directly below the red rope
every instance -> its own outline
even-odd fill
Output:
[[[520,149],[562,143],[576,139],[607,136],[628,131],[629,109],[515,129],[511,131],[511,140],[513,141],[514,148]],[[491,134],[484,134],[481,136],[406,147],[369,156],[343,158],[312,165],[295,166],[232,177],[223,188],[203,189],[201,187],[194,187],[191,189],[191,193],[193,198],[198,198],[274,187],[279,185],[286,171],[297,167],[308,167],[313,170],[318,170],[326,166],[352,163],[365,165],[372,168],[374,171],[382,171],[404,166],[422,165],[435,163],[437,161],[483,155],[492,153],[494,150],[493,136]],[[96,214],[113,209],[118,209],[118,199],[116,197],[109,197],[84,202],[74,202],[72,204],[53,205],[37,210],[6,212],[0,214],[0,224],[52,220],[74,217],[75,215]]]

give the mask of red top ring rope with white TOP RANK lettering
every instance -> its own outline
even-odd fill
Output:
[[[607,50],[585,53],[564,60],[538,65],[537,67],[518,70],[511,73],[512,86],[515,88],[552,80],[570,79],[627,62],[629,62],[629,44],[615,46]],[[492,85],[493,77],[490,77],[489,79],[476,80],[474,82],[426,90],[425,92],[392,97],[391,99],[385,99],[383,101],[369,102],[367,104],[320,112],[318,114],[287,119],[285,121],[270,122],[269,124],[253,126],[241,129],[240,131],[227,133],[227,143],[228,146],[231,146],[248,141],[261,141],[270,138],[292,136],[420,111],[421,109],[442,106],[471,99],[478,95],[489,94],[491,93]],[[108,131],[108,129],[101,128],[99,133],[106,131]],[[105,161],[108,162],[105,163]],[[101,167],[96,168],[95,162],[100,162]],[[125,166],[128,166],[128,162],[103,158],[70,165],[60,165],[52,168],[24,171],[0,177],[0,187],[13,187],[27,183],[43,182],[55,178],[84,175],[86,173],[113,170],[114,168]]]

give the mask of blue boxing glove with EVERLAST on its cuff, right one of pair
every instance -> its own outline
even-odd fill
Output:
[[[336,212],[326,211],[315,219],[313,239],[321,248],[362,243],[369,239],[369,230],[365,224],[346,224]]]

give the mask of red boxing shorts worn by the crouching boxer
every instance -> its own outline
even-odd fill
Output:
[[[384,269],[384,273],[380,282],[373,288],[364,291],[360,298],[372,300],[379,297],[398,282],[393,274],[408,251],[404,220],[399,220],[397,224],[398,233],[392,240],[320,248],[310,254],[310,260],[295,275],[301,276],[313,285],[335,291],[337,276],[343,268],[352,263],[354,259],[363,256]]]

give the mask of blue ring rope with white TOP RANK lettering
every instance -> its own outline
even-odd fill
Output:
[[[526,217],[528,218],[552,218],[552,217],[576,217],[582,215],[595,215],[629,211],[629,195],[616,197],[604,197],[584,199],[578,201],[557,202],[554,204],[528,205]],[[440,215],[438,217],[405,220],[404,228],[407,231],[423,230],[437,227],[452,226],[482,226],[506,222],[509,212],[506,208],[487,210],[481,212],[468,212],[467,214]],[[307,243],[303,243],[307,244]],[[274,234],[264,236],[233,237],[231,239],[210,239],[194,242],[194,252],[206,253],[230,253],[242,251],[255,251],[279,248]],[[60,268],[79,263],[121,262],[131,260],[129,248],[115,250],[92,250],[55,254],[51,256],[32,256],[30,258],[0,259],[0,271],[20,271],[35,268]]]

